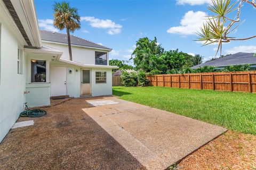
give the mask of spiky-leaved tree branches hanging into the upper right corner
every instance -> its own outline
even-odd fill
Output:
[[[239,2],[239,3],[238,3]],[[238,3],[238,6],[235,5]],[[228,43],[230,41],[244,41],[247,39],[255,38],[256,35],[246,38],[230,37],[229,34],[239,27],[243,22],[240,21],[240,13],[243,3],[248,3],[256,8],[255,0],[238,0],[231,4],[231,0],[212,0],[212,4],[208,7],[210,11],[215,15],[208,16],[206,23],[201,28],[201,32],[198,32],[199,36],[197,41],[205,42],[204,45],[212,43],[218,43],[218,50],[222,50],[222,43]],[[231,12],[237,11],[235,19],[227,17]],[[238,25],[235,26],[235,24]]]

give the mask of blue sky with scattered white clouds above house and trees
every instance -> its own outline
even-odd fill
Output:
[[[81,29],[74,35],[113,48],[110,59],[127,60],[139,38],[157,37],[166,51],[201,54],[204,60],[215,55],[217,45],[203,46],[193,41],[204,20],[211,0],[171,1],[69,1],[81,15]],[[235,2],[234,0],[231,0]],[[35,1],[39,27],[59,31],[52,26],[54,1]],[[236,12],[229,16],[234,18]],[[245,38],[256,35],[256,9],[244,4],[245,22],[231,35]],[[66,33],[59,31],[60,33]],[[256,38],[223,45],[222,53],[256,52]]]

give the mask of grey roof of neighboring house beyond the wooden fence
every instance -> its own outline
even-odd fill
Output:
[[[255,64],[256,57],[253,56],[253,53],[235,53],[223,58],[206,61],[202,64],[198,64],[196,66],[191,67],[192,69],[196,69],[203,66],[214,66],[214,67],[225,67],[230,65],[237,65],[237,64]]]

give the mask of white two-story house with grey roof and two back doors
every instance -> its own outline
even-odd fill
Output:
[[[33,0],[0,1],[0,142],[25,108],[47,106],[51,96],[112,94],[111,48],[39,30]]]

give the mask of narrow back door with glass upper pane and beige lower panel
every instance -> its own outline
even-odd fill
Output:
[[[81,71],[81,95],[91,95],[91,71]]]

